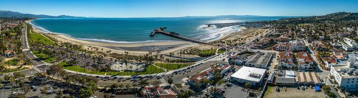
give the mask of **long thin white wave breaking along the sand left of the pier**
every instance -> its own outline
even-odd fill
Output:
[[[107,43],[149,43],[149,42],[174,42],[174,41],[154,41],[154,40],[148,40],[148,41],[137,41],[137,42],[128,42],[128,41],[113,41],[113,40],[106,40],[106,39],[86,39],[86,38],[76,38],[79,40],[87,40],[87,41],[98,41],[98,42],[107,42]]]

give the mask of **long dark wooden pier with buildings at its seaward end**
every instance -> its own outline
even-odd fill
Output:
[[[207,44],[207,45],[213,45],[213,46],[218,46],[216,44],[212,44],[210,42],[206,42],[206,41],[202,41],[202,40],[198,40],[198,39],[193,39],[193,38],[189,38],[189,37],[185,37],[185,36],[180,36],[178,33],[173,33],[173,32],[167,32],[167,31],[163,31],[163,29],[165,29],[166,27],[159,27],[156,28],[152,31],[151,36],[154,36],[154,34],[156,33],[161,33],[164,35],[168,35],[168,36],[172,36],[181,40],[186,40],[186,41],[190,41],[193,43],[199,43],[199,44]]]

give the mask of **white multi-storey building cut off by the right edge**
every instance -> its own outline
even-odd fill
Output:
[[[344,66],[332,66],[330,74],[338,86],[348,91],[358,91],[358,66],[354,62],[347,62]]]

